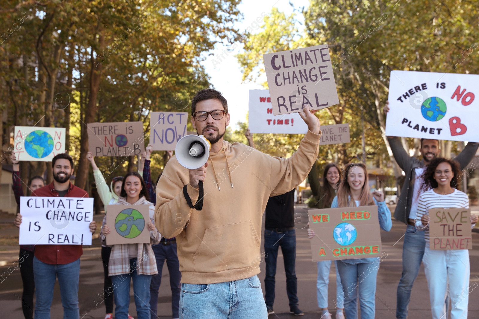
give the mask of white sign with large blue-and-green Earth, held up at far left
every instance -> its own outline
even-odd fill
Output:
[[[51,162],[65,153],[65,128],[15,126],[14,151],[19,161]]]

